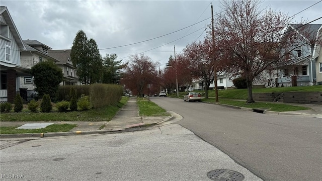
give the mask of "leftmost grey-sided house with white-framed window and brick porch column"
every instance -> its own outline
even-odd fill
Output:
[[[26,51],[24,42],[7,7],[0,7],[0,102],[13,103],[20,88],[20,76],[31,76],[20,62],[20,51]]]

